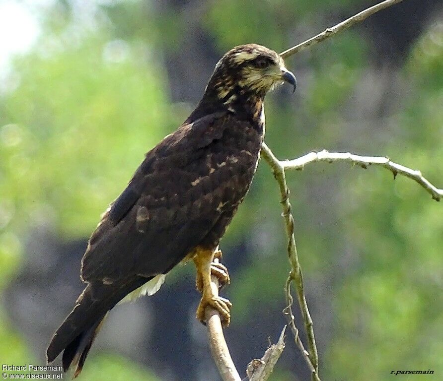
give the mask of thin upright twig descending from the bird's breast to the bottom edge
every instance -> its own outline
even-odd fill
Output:
[[[315,345],[314,330],[312,327],[312,318],[309,314],[306,298],[303,292],[303,275],[301,274],[300,263],[298,261],[297,248],[295,246],[294,237],[294,217],[291,214],[291,203],[289,202],[289,189],[286,184],[285,168],[278,160],[269,147],[263,143],[261,156],[271,166],[274,177],[277,180],[281,194],[281,204],[283,208],[282,217],[285,219],[286,235],[288,237],[288,257],[292,267],[292,278],[295,280],[295,287],[297,291],[298,304],[303,316],[304,326],[308,338],[309,347],[309,361],[311,363],[311,370],[313,369],[313,380],[319,380],[318,377],[318,353]],[[292,314],[291,314],[292,315]],[[304,354],[304,352],[303,352]]]

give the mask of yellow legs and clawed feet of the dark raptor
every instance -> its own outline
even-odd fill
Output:
[[[229,275],[227,275],[223,265],[218,266],[220,263],[213,263],[214,254],[212,250],[198,248],[194,257],[194,263],[197,268],[196,287],[202,292],[202,299],[197,308],[196,317],[202,323],[205,323],[206,307],[211,306],[219,312],[223,325],[227,326],[230,322],[229,309],[232,305],[227,299],[214,294],[211,288],[211,274],[225,282],[229,281]]]

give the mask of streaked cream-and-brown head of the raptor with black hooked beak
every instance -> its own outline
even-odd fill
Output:
[[[207,89],[215,90],[223,103],[242,95],[263,98],[283,82],[296,87],[295,75],[285,67],[278,53],[257,44],[240,45],[217,63]]]

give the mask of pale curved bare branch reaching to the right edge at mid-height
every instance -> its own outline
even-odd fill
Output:
[[[431,184],[427,179],[425,179],[422,173],[418,170],[413,170],[411,168],[405,167],[401,164],[394,163],[389,160],[388,157],[383,156],[359,156],[354,155],[350,152],[328,152],[326,150],[320,152],[309,152],[308,154],[298,157],[289,161],[280,161],[280,165],[285,169],[303,169],[306,164],[316,163],[320,161],[326,161],[328,163],[333,163],[337,161],[342,161],[346,163],[351,163],[352,165],[358,165],[362,168],[368,168],[369,165],[378,165],[380,167],[386,168],[394,174],[394,178],[397,175],[402,175],[416,181],[420,184],[428,193],[431,194],[432,198],[440,201],[443,197],[443,189],[439,189],[433,184]]]

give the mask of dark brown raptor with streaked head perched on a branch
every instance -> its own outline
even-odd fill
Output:
[[[214,258],[257,169],[265,95],[284,82],[295,91],[295,75],[264,46],[240,45],[222,56],[195,110],[146,153],[89,238],[80,268],[85,288],[49,343],[48,363],[63,351],[63,370],[77,377],[109,311],[154,294],[187,261],[202,293],[196,317],[205,323],[210,306],[229,324],[232,305],[210,284],[212,274],[222,283],[229,275]]]

